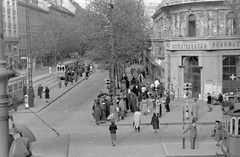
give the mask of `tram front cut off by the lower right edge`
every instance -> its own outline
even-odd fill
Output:
[[[223,112],[221,149],[226,157],[240,157],[240,96],[234,99],[234,109]]]

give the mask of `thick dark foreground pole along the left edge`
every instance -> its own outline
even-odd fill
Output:
[[[4,60],[3,6],[0,3],[0,156],[8,157],[9,124],[8,124],[8,79],[13,77],[13,71],[7,69]]]

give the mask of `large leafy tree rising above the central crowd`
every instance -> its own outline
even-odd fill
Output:
[[[109,56],[109,36],[112,33],[116,60],[124,63],[136,59],[136,53],[144,48],[143,41],[148,32],[149,21],[144,16],[143,2],[115,0],[111,6],[106,0],[89,0],[88,11],[94,20],[92,22],[98,24],[92,31],[92,36],[97,40],[93,40],[95,44],[90,56],[96,60],[107,59],[105,56]]]

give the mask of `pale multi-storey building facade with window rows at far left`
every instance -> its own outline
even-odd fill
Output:
[[[19,60],[17,1],[3,0],[2,3],[5,60],[10,66],[15,66]]]

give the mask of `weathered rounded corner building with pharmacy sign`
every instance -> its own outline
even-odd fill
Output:
[[[152,60],[176,97],[187,84],[201,98],[240,87],[240,38],[224,0],[163,0],[153,20]]]

